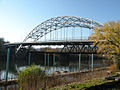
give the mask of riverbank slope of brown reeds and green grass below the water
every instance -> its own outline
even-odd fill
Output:
[[[100,86],[105,83],[113,83],[115,80],[120,78],[120,74],[118,72],[118,74],[115,75],[115,72],[113,73],[108,71],[108,68],[99,68],[89,71],[51,74],[47,75],[46,79],[42,81],[38,78],[39,76],[30,77],[30,79],[27,79],[27,81],[25,83],[23,82],[22,84],[26,85],[24,87],[29,90],[40,88],[47,90],[81,90]]]

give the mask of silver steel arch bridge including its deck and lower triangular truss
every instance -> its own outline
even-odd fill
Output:
[[[53,32],[53,31],[60,30],[61,28],[81,27],[81,28],[87,28],[87,29],[94,29],[95,27],[102,27],[102,26],[103,26],[103,24],[101,24],[99,22],[96,22],[96,21],[88,19],[88,18],[79,17],[79,16],[54,17],[54,18],[48,19],[48,20],[42,22],[41,24],[39,24],[38,26],[36,26],[26,36],[26,38],[23,40],[23,42],[17,48],[16,52],[18,52],[19,49],[25,45],[25,43],[28,43],[28,44],[30,43],[30,45],[33,45],[33,43],[34,43],[34,45],[35,45],[35,43],[36,44],[43,43],[43,45],[45,45],[46,43],[41,42],[40,39],[42,37],[45,37],[47,34]],[[86,44],[86,42],[87,42],[87,44]],[[92,42],[90,42],[89,40],[76,41],[76,42],[68,40],[67,42],[66,41],[61,41],[61,42],[54,41],[53,43],[55,43],[55,45],[57,45],[57,43],[58,44],[62,43],[61,45],[64,45],[61,52],[63,52],[63,51],[65,51],[65,52],[71,52],[71,51],[81,52],[81,51],[83,51],[84,52],[86,45],[87,45],[88,49],[90,48],[89,50],[91,52],[91,50],[93,50],[93,48],[94,48],[93,46],[92,47],[90,46]],[[50,43],[48,41],[48,43],[46,45],[50,45],[50,44],[51,44],[51,41],[50,41]],[[93,51],[95,52],[95,50],[93,50]]]

